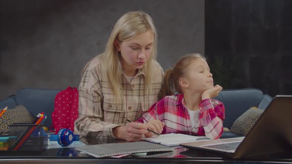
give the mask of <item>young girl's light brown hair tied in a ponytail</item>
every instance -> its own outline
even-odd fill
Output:
[[[160,91],[161,98],[174,95],[174,92],[182,93],[182,88],[179,83],[180,79],[185,76],[186,68],[195,60],[195,59],[203,59],[206,58],[198,53],[192,53],[182,57],[172,69],[168,69],[165,72],[162,88]]]

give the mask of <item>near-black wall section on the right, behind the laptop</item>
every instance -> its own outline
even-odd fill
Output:
[[[291,95],[291,8],[292,0],[205,0],[205,55],[214,83]]]

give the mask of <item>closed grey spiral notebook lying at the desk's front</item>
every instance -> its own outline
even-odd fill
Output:
[[[154,144],[150,142],[126,142],[100,145],[78,146],[76,150],[92,155],[96,158],[109,157],[121,154],[173,151],[172,147]]]

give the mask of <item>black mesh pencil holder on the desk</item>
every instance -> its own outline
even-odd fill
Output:
[[[43,124],[17,123],[8,125],[8,151],[40,152],[48,147]]]

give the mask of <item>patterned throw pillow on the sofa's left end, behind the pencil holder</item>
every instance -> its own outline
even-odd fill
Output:
[[[8,124],[12,123],[31,123],[32,115],[24,106],[16,106],[13,109],[7,109],[0,118],[0,134],[8,134]]]

